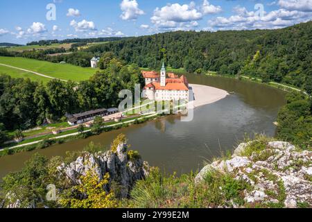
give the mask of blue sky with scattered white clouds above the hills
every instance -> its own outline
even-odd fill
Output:
[[[282,28],[311,18],[312,0],[1,0],[0,42]]]

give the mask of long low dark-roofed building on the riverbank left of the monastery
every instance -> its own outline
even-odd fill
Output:
[[[75,126],[77,124],[86,123],[88,121],[92,121],[95,117],[107,117],[112,114],[118,113],[119,110],[117,108],[110,109],[98,109],[98,110],[90,110],[87,112],[80,112],[76,114],[71,114],[68,117],[68,123],[71,126]]]

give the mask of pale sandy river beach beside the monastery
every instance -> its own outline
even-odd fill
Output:
[[[229,95],[223,89],[217,89],[207,85],[190,84],[189,87],[193,89],[193,99],[191,98],[190,101],[194,101],[194,108],[215,103],[216,101],[224,99],[227,95]]]

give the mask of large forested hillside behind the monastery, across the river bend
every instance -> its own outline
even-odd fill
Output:
[[[312,22],[278,30],[161,33],[93,46],[86,51],[115,56],[140,67],[162,59],[186,71],[257,76],[311,92]]]

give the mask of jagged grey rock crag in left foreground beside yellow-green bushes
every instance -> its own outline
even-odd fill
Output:
[[[127,144],[119,144],[116,152],[112,150],[96,154],[84,153],[75,162],[58,167],[58,171],[66,176],[71,185],[80,184],[80,177],[85,176],[87,171],[94,171],[99,180],[102,180],[106,173],[110,174],[110,182],[104,187],[110,191],[112,182],[116,182],[120,189],[120,197],[128,196],[130,189],[137,180],[148,176],[149,165],[141,157],[128,157]]]

